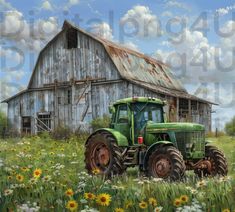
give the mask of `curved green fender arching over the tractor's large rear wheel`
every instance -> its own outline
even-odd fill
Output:
[[[93,136],[94,134],[96,134],[96,133],[98,133],[98,132],[109,132],[109,133],[111,133],[112,135],[113,135],[113,137],[116,139],[116,141],[117,141],[117,144],[118,144],[118,146],[129,146],[129,143],[128,143],[128,140],[127,140],[127,138],[122,134],[122,133],[120,133],[119,131],[117,131],[117,130],[114,130],[114,129],[110,129],[110,128],[102,128],[102,129],[98,129],[98,130],[96,130],[94,133],[92,133],[89,137],[88,137],[88,139],[87,139],[87,141],[86,141],[86,144],[87,144],[87,142],[88,142],[88,140],[90,139],[90,137],[91,136]]]

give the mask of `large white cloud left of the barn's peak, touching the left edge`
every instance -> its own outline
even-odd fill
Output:
[[[0,22],[0,34],[5,40],[15,42],[20,47],[38,51],[59,31],[55,17],[36,20],[30,24],[17,10],[7,11]]]

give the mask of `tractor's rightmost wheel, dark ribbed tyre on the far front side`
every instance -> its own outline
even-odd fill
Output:
[[[210,170],[195,170],[195,174],[199,177],[207,177],[207,176],[226,176],[228,174],[228,164],[227,160],[223,154],[217,147],[214,146],[206,146],[205,152],[205,160],[208,160],[211,163]]]

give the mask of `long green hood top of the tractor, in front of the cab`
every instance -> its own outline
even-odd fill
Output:
[[[149,121],[146,126],[148,133],[163,132],[163,131],[178,131],[178,132],[191,132],[191,131],[204,131],[205,127],[195,123],[154,123]]]

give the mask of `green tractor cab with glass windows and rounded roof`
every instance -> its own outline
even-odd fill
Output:
[[[147,97],[119,100],[110,107],[111,128],[122,132],[130,143],[140,144],[148,122],[164,122],[163,105],[161,100]]]

